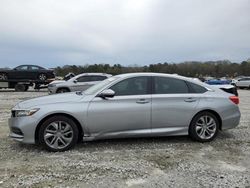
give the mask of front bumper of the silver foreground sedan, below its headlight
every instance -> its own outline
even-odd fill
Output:
[[[37,119],[32,116],[9,118],[9,136],[16,141],[35,144]]]

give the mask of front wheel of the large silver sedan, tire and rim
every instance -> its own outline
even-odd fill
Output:
[[[51,117],[42,124],[39,141],[49,151],[69,150],[78,141],[77,125],[65,116]]]

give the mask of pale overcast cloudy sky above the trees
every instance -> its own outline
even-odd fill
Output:
[[[0,67],[250,58],[250,0],[0,0]]]

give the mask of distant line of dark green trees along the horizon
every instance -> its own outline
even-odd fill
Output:
[[[56,67],[57,76],[65,76],[69,72],[80,74],[85,72],[109,73],[112,75],[131,72],[158,72],[179,74],[188,77],[237,77],[240,75],[250,76],[250,60],[241,63],[233,63],[228,60],[223,61],[189,61],[183,63],[157,63],[147,66],[122,66],[120,64],[93,64],[93,65],[65,65]]]

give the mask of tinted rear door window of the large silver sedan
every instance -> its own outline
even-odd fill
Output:
[[[155,77],[155,94],[188,93],[185,81],[176,78]]]

